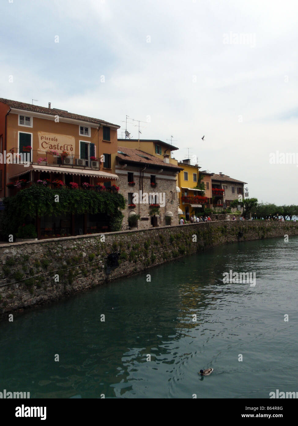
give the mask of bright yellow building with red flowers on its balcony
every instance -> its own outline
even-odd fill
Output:
[[[200,167],[198,164],[190,164],[190,159],[186,159],[179,162],[178,165],[184,169],[178,175],[178,186],[181,191],[179,199],[179,208],[181,209],[180,214],[185,216],[188,222],[190,220],[190,216],[195,213],[195,211],[199,213],[200,210],[202,211],[203,207],[209,206],[209,197],[205,195],[206,190],[197,188],[201,178],[201,176],[199,176]],[[209,178],[205,175],[203,176],[203,179],[206,182],[209,180]],[[211,183],[209,184],[209,188],[211,188]]]

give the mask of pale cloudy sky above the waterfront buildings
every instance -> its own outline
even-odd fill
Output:
[[[1,0],[0,97],[123,131],[129,115],[143,138],[172,135],[178,160],[188,147],[250,197],[298,204],[298,161],[269,162],[298,152],[297,14],[277,0]]]

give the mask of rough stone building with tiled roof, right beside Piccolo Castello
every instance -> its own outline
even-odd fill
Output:
[[[181,167],[170,164],[166,154],[161,160],[144,151],[126,147],[118,147],[116,159],[119,192],[126,200],[124,227],[128,226],[128,216],[132,214],[141,216],[139,229],[153,227],[149,213],[154,204],[159,204],[157,226],[178,225],[176,175]]]

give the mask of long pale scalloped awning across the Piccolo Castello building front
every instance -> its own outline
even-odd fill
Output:
[[[17,164],[16,164],[17,165]],[[11,169],[13,169],[11,167]],[[79,176],[91,176],[94,178],[101,178],[107,180],[116,180],[118,179],[117,175],[113,173],[102,172],[101,170],[91,170],[91,169],[80,169],[76,167],[50,167],[50,166],[40,166],[38,164],[30,164],[29,167],[22,167],[19,169],[19,173],[12,174],[9,178],[16,178],[17,176],[22,176],[31,170],[38,172],[48,172],[48,173],[63,173],[65,175],[79,175]]]

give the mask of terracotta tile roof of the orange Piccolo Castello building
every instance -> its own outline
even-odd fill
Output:
[[[108,121],[99,120],[98,118],[87,117],[85,115],[74,114],[73,112],[63,111],[62,109],[40,107],[39,105],[25,104],[24,102],[11,101],[10,99],[0,98],[0,102],[11,108],[23,109],[24,111],[41,112],[42,114],[55,115],[60,117],[73,118],[74,120],[86,121],[93,124],[107,124],[120,128],[118,124],[109,123]]]

